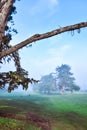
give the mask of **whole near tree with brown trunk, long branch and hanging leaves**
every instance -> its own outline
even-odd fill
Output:
[[[26,89],[28,88],[28,83],[36,81],[28,78],[28,72],[21,67],[18,53],[19,49],[41,39],[49,38],[66,31],[78,30],[78,32],[80,32],[80,28],[87,27],[87,22],[81,22],[75,25],[54,29],[53,31],[43,34],[37,33],[26,40],[11,46],[10,40],[12,39],[12,31],[17,33],[17,30],[10,27],[8,23],[11,22],[11,24],[14,24],[13,14],[16,13],[16,1],[17,0],[0,0],[0,64],[3,64],[5,61],[10,62],[10,60],[13,59],[16,67],[15,72],[0,73],[0,87],[4,88],[7,84],[8,90],[10,91],[19,85],[22,85],[23,88]]]

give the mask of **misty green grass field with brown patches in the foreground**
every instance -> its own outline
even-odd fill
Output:
[[[0,96],[0,130],[87,130],[87,94]]]

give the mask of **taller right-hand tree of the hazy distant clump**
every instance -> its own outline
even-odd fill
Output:
[[[66,64],[58,66],[56,68],[58,86],[60,90],[64,91],[64,89],[66,89],[73,91],[80,89],[75,84],[75,78],[73,77],[73,73],[71,73],[70,70],[71,67]]]

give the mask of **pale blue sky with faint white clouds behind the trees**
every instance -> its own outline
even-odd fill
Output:
[[[36,33],[87,21],[87,0],[21,0],[16,7],[18,34],[13,36],[12,45]],[[22,67],[30,77],[39,79],[57,66],[68,64],[77,84],[87,89],[87,28],[81,29],[80,34],[74,31],[74,36],[66,32],[35,42],[19,52]],[[14,70],[14,64],[4,65],[2,70]]]

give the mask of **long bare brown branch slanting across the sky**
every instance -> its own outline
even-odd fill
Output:
[[[59,28],[59,29],[56,29],[56,30],[53,30],[53,31],[50,31],[47,33],[43,33],[43,34],[35,34],[35,35],[31,36],[30,38],[20,42],[19,44],[14,45],[13,47],[9,48],[7,51],[0,52],[0,58],[3,58],[4,56],[7,56],[7,55],[17,51],[32,42],[35,42],[35,41],[38,41],[41,39],[45,39],[45,38],[49,38],[49,37],[52,37],[52,36],[67,32],[67,31],[72,31],[72,30],[74,31],[76,29],[80,29],[80,28],[84,28],[84,27],[87,27],[87,22],[81,22],[78,24],[62,27],[62,28]]]

